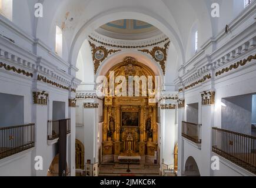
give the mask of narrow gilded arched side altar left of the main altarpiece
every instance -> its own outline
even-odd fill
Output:
[[[84,145],[75,139],[75,168],[84,170]]]

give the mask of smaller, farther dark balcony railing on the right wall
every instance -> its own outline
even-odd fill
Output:
[[[200,129],[200,124],[182,122],[182,136],[198,144],[201,143]]]

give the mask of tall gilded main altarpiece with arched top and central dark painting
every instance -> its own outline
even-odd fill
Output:
[[[103,162],[108,162],[109,156],[112,159],[118,156],[118,160],[114,162],[122,162],[128,156],[141,162],[142,157],[146,156],[148,163],[157,163],[157,103],[151,102],[146,89],[149,78],[155,88],[154,72],[132,57],[126,57],[123,62],[109,69],[106,75],[108,80],[111,80],[111,72],[114,73],[114,78],[122,76],[125,79],[122,80],[122,92],[125,90],[125,96],[117,95],[119,82],[116,80],[114,88],[109,86],[107,90],[109,94],[115,92],[115,97],[112,95],[104,98]],[[132,86],[131,77],[134,78]]]

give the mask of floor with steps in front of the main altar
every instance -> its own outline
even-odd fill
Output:
[[[130,164],[101,164],[99,176],[159,176],[158,165]]]

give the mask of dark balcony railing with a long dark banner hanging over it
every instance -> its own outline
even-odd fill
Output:
[[[71,133],[71,119],[62,119],[62,120],[53,120],[53,121],[49,120],[48,121],[48,140],[58,139],[60,121],[66,121],[67,134]]]

